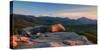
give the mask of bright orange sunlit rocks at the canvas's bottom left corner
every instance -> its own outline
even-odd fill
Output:
[[[31,41],[30,38],[25,37],[25,36],[11,36],[10,37],[10,46],[12,48],[16,48],[18,46],[22,46],[22,45],[26,45],[26,46],[31,46],[33,45],[33,42]]]

